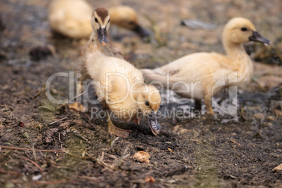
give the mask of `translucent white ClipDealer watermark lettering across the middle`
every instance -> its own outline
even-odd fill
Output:
[[[109,81],[109,78],[111,76],[119,76],[121,79],[123,79],[123,83],[126,84],[126,86],[123,86],[124,88],[126,88],[126,92],[125,94],[121,97],[121,99],[114,101],[116,103],[119,102],[123,102],[123,100],[128,100],[128,98],[130,98],[130,100],[132,100],[133,102],[138,102],[137,100],[135,100],[135,98],[133,98],[134,93],[146,93],[148,92],[148,88],[145,87],[145,90],[137,90],[135,86],[137,86],[137,84],[144,84],[142,81],[135,81],[134,83],[130,83],[130,81],[128,80],[128,78],[126,77],[126,75],[121,74],[121,73],[107,73],[105,75],[105,80],[106,80],[106,87],[105,84],[102,85],[99,81],[79,81],[79,78],[81,77],[81,74],[76,73],[75,72],[58,72],[55,73],[53,75],[51,75],[48,80],[46,81],[46,96],[48,98],[48,100],[50,100],[51,102],[58,104],[58,105],[62,105],[64,103],[73,103],[73,102],[80,102],[83,107],[85,107],[86,109],[88,109],[89,105],[95,105],[98,104],[100,102],[102,102],[102,100],[105,100],[105,102],[107,102],[107,104],[111,104],[114,103],[113,101],[109,101],[107,100],[107,95],[109,95],[109,88],[107,87],[111,84]],[[64,81],[64,84],[67,84],[67,88],[69,90],[69,93],[67,95],[67,97],[65,99],[58,99],[58,98],[54,98],[54,96],[51,94],[51,88],[52,85],[54,85],[55,83],[55,79],[67,79],[67,83]],[[197,90],[196,87],[201,87],[201,81],[191,81],[190,83],[184,82],[184,81],[177,81],[175,83],[173,83],[172,86],[169,86],[170,84],[170,77],[169,74],[167,74],[167,78],[168,81],[166,83],[166,86],[163,86],[162,83],[154,81],[150,84],[158,86],[159,88],[159,93],[161,94],[161,105],[167,105],[169,103],[174,103],[176,105],[187,105],[188,101],[191,101],[189,99],[197,99]],[[228,74],[227,76],[222,76],[221,79],[219,79],[218,81],[215,82],[215,84],[213,85],[212,88],[212,104],[213,104],[213,108],[217,109],[217,111],[220,111],[224,114],[229,114],[230,116],[236,116],[237,114],[237,107],[238,107],[238,101],[237,101],[237,86],[236,83],[238,81],[238,73],[237,72],[231,72],[230,74]],[[83,88],[83,90],[80,90],[81,93],[79,93],[78,89],[76,88]],[[95,93],[90,93],[88,92],[90,90],[90,88],[95,88],[95,92],[98,93],[98,98],[93,98],[93,96],[95,95]],[[177,90],[177,94],[179,94],[180,96],[182,95],[188,95],[189,99],[187,98],[177,98],[176,95],[173,95],[173,92],[171,90],[168,90],[167,88],[171,88],[171,90]],[[181,88],[181,89],[180,89]],[[214,96],[213,93],[217,93],[215,92],[215,90],[221,90],[222,88],[228,88],[229,90],[229,100],[228,102],[225,102],[223,105],[219,102],[217,102],[217,100],[214,100]],[[79,98],[78,96],[82,96],[83,100],[81,100],[81,98]],[[148,95],[152,95],[152,93],[149,93]],[[75,99],[75,100],[74,100]],[[119,110],[119,112],[122,112],[121,110]],[[137,112],[141,112],[141,110],[137,110]],[[176,117],[176,118],[199,118],[199,116],[201,115],[201,112],[199,112],[196,109],[192,109],[190,107],[188,107],[187,109],[177,109],[175,107],[172,107],[170,109],[168,109],[168,107],[165,107],[164,110],[162,110],[163,113],[159,112],[158,114],[156,114],[159,118],[170,118],[170,117]],[[90,113],[91,116],[93,117],[98,117],[98,118],[103,118],[106,116],[105,111],[101,111],[99,110],[99,108],[97,107],[91,107],[90,108]],[[118,112],[112,112],[109,115],[116,115]],[[126,112],[128,114],[128,112]],[[138,114],[139,115],[139,114]],[[138,116],[137,115],[137,116]],[[142,113],[140,113],[140,116],[142,116]]]

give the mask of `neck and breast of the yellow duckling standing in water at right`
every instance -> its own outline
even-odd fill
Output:
[[[238,81],[250,81],[253,75],[253,62],[242,44],[224,45],[231,66],[237,70]]]

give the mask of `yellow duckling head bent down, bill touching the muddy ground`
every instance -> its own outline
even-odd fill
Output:
[[[156,112],[161,105],[159,90],[152,85],[143,85],[137,93],[137,108],[144,116],[147,116],[149,126],[154,135],[159,134],[161,125],[156,119]]]

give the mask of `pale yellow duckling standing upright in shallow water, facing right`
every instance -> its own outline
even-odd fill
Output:
[[[253,62],[248,57],[242,43],[248,41],[270,43],[268,39],[256,31],[253,23],[246,18],[229,20],[224,27],[222,41],[226,55],[193,53],[163,67],[142,69],[142,72],[149,81],[160,81],[163,86],[174,90],[178,95],[184,98],[193,98],[198,106],[204,99],[207,114],[213,115],[212,95],[220,90],[220,88],[213,90],[217,81],[224,77],[228,78],[228,74],[234,71],[237,71],[238,84],[248,83],[251,79]]]

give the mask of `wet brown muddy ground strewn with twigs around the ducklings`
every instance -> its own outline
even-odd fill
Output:
[[[0,187],[282,187],[282,171],[272,171],[282,163],[280,0],[90,4],[132,6],[141,25],[156,33],[146,42],[111,26],[115,46],[138,68],[158,67],[199,51],[223,53],[222,28],[236,16],[252,20],[272,46],[246,44],[250,57],[260,62],[255,62],[254,81],[239,90],[235,118],[219,112],[209,117],[204,107],[201,114],[189,116],[193,102],[177,105],[164,96],[163,115],[166,109],[182,114],[161,116],[158,136],[145,118],[140,126],[130,123],[133,131],[123,139],[107,133],[105,118],[91,118],[91,107],[103,112],[100,105],[88,105],[83,113],[46,97],[49,76],[77,70],[86,40],[52,34],[48,1],[1,1]],[[180,25],[184,19],[215,29],[189,29]],[[72,99],[69,84],[75,81],[54,79],[53,97]],[[227,98],[223,92],[215,100]],[[149,163],[133,159],[138,151],[150,155]]]

